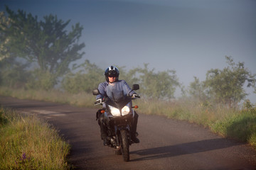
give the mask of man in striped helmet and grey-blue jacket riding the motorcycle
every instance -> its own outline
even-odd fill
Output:
[[[97,101],[102,101],[105,96],[107,96],[107,86],[112,83],[119,83],[122,87],[122,91],[124,91],[124,94],[128,94],[132,89],[128,86],[127,82],[124,80],[119,80],[119,70],[117,67],[110,66],[105,70],[105,78],[106,81],[99,84],[98,90],[100,91],[100,94],[96,96]],[[133,96],[137,96],[135,91],[132,91],[130,93]],[[103,107],[105,107],[103,105]],[[132,132],[131,132],[131,138],[134,143],[139,143],[139,139],[136,137],[136,130],[137,130],[137,122],[138,122],[139,115],[134,112],[134,123],[132,124]],[[100,133],[101,133],[101,139],[103,140],[103,145],[109,145],[110,140],[107,137],[107,118],[105,117],[105,114],[100,113],[100,110],[97,111],[97,119],[99,119],[98,123],[100,125]]]

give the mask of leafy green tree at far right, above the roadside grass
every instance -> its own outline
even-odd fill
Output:
[[[210,69],[204,83],[215,101],[233,107],[247,96],[243,89],[245,82],[247,82],[247,87],[255,88],[256,74],[251,74],[243,62],[235,64],[232,57],[226,56],[225,58],[228,67],[223,70]]]

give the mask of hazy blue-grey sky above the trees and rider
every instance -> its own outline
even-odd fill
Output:
[[[1,0],[39,19],[50,13],[84,29],[84,59],[106,68],[176,70],[188,86],[210,69],[227,66],[225,56],[256,74],[255,0]],[[252,90],[247,91],[252,93]],[[256,95],[248,98],[256,103]]]

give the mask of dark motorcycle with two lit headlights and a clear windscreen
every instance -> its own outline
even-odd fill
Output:
[[[107,86],[107,97],[102,101],[96,101],[95,105],[103,105],[101,113],[107,118],[107,133],[110,147],[114,147],[114,154],[123,155],[125,162],[129,162],[129,146],[132,145],[131,131],[134,121],[134,109],[132,100],[140,98],[137,94],[130,96],[133,90],[139,90],[139,84],[133,84],[132,91],[124,95],[118,90],[117,84]],[[93,95],[100,94],[98,89],[92,91]],[[136,133],[136,135],[138,135]]]

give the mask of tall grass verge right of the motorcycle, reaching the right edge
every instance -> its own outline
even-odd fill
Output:
[[[246,101],[242,109],[204,106],[184,98],[171,102],[141,100],[137,104],[140,112],[203,125],[223,137],[247,142],[256,149],[256,107],[250,101]]]

